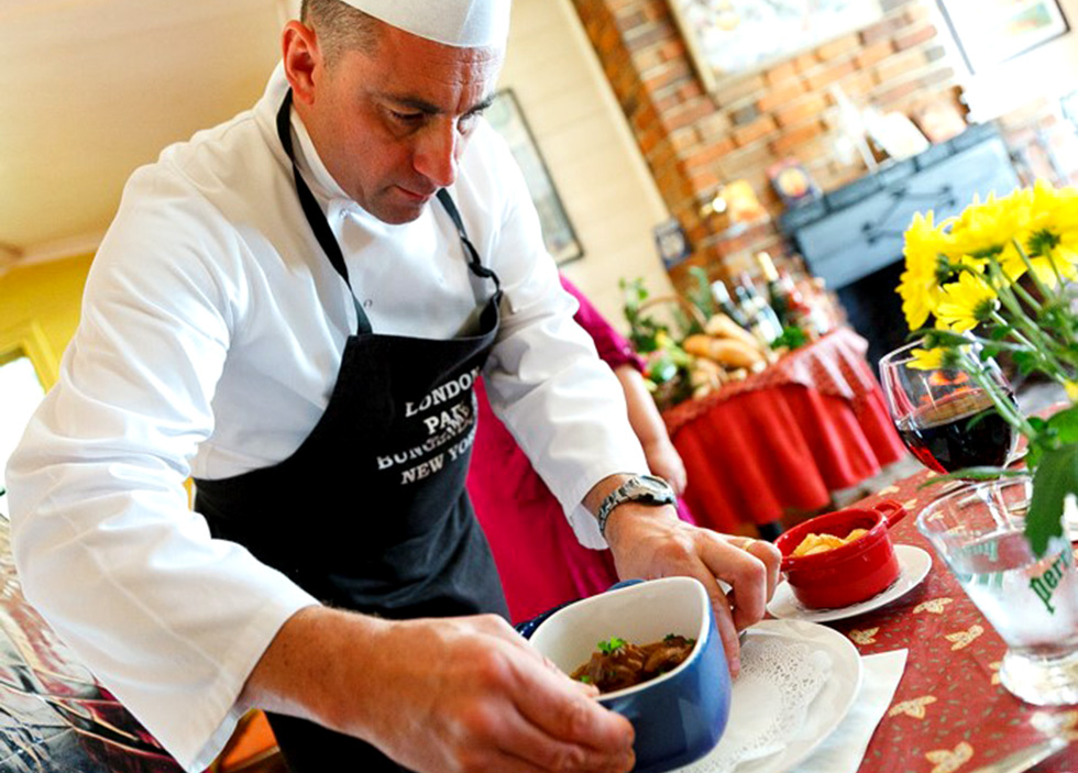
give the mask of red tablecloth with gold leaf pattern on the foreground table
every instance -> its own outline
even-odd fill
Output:
[[[1044,732],[1078,741],[1078,706],[1030,706],[1000,684],[1003,641],[916,529],[917,514],[938,492],[919,489],[930,475],[917,473],[857,505],[903,503],[909,516],[892,529],[892,538],[928,551],[928,576],[887,607],[827,623],[848,636],[861,654],[910,651],[860,773],[969,773],[1043,740]],[[1035,770],[1078,770],[1078,743]]]

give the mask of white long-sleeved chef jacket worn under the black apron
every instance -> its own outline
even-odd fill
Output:
[[[190,771],[212,761],[248,708],[238,696],[278,628],[317,601],[211,539],[184,481],[288,457],[327,406],[355,330],[276,136],[286,90],[278,65],[253,110],[134,173],[58,383],[7,474],[28,598]],[[441,206],[399,225],[376,220],[332,179],[295,113],[292,128],[374,331],[457,334],[476,298]],[[485,369],[491,401],[581,541],[601,548],[580,501],[606,475],[645,470],[644,454],[617,380],[572,322],[575,301],[518,168],[487,124],[474,132],[451,192],[505,289]]]

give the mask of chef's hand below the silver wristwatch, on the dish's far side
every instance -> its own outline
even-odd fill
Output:
[[[782,555],[769,542],[721,534],[678,518],[673,507],[618,505],[606,522],[618,576],[685,575],[707,589],[730,672],[740,669],[737,632],[759,621],[779,581]],[[726,593],[718,581],[732,586]]]

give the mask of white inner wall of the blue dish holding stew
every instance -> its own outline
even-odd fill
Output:
[[[649,644],[668,633],[695,639],[692,655],[664,678],[681,671],[701,651],[710,628],[710,615],[707,592],[698,581],[663,577],[607,590],[559,609],[531,634],[531,645],[563,672],[572,674],[591,659],[598,642],[610,637],[634,644]],[[648,684],[652,682],[638,687]]]

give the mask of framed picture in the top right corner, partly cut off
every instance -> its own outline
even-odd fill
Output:
[[[936,0],[970,73],[1070,31],[1056,0]]]

